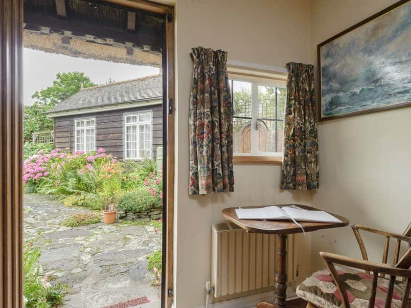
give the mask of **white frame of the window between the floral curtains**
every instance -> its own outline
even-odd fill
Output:
[[[258,151],[258,131],[254,128],[256,127],[257,121],[259,120],[259,102],[258,102],[258,87],[275,87],[275,88],[285,88],[287,90],[286,80],[271,80],[263,77],[245,77],[241,75],[230,74],[228,76],[231,81],[247,82],[251,83],[251,153],[233,153],[236,157],[248,156],[252,157],[282,157],[283,152],[259,152]],[[230,84],[231,87],[231,84]],[[234,98],[233,98],[234,99]],[[234,106],[234,102],[233,102]],[[234,121],[234,118],[233,118]],[[284,120],[283,120],[284,121]],[[283,122],[284,123],[284,122]],[[234,157],[234,158],[235,158]]]

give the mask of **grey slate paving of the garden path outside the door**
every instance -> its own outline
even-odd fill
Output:
[[[147,269],[147,255],[161,247],[160,235],[151,225],[123,222],[61,226],[72,214],[90,212],[46,196],[24,195],[25,237],[42,232],[36,244],[43,250],[43,274],[70,286],[64,307],[101,308],[143,296],[150,308],[160,307],[160,288],[153,286],[155,276]]]

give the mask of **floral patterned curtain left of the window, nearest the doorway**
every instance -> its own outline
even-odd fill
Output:
[[[188,193],[234,191],[233,106],[227,52],[197,47],[189,111],[190,167]]]

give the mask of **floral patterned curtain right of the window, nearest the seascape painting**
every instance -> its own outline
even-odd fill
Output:
[[[282,189],[319,188],[314,66],[287,63]]]

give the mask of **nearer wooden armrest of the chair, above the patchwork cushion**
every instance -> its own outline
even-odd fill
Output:
[[[363,269],[366,271],[373,271],[382,274],[392,275],[392,276],[399,276],[399,277],[411,277],[411,270],[398,268],[392,265],[388,265],[385,263],[378,263],[366,260],[359,260],[354,258],[349,258],[342,255],[337,255],[330,252],[320,252],[321,258],[325,261],[328,266],[328,263],[335,263],[341,264],[345,266],[355,267],[359,269]]]

